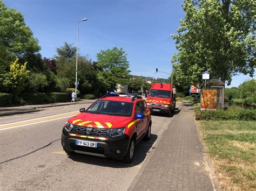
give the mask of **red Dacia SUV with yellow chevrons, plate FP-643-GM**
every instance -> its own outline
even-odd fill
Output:
[[[69,118],[62,130],[62,146],[68,154],[91,154],[130,163],[136,144],[150,139],[150,109],[140,96],[121,97],[110,92],[80,112]]]

